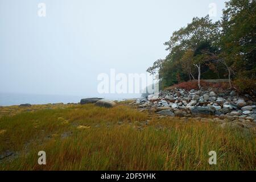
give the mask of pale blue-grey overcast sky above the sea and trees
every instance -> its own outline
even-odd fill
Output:
[[[100,73],[146,73],[210,3],[220,19],[224,0],[0,0],[0,92],[97,96]]]

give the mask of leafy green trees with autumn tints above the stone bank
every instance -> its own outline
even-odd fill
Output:
[[[164,45],[168,55],[147,69],[159,74],[163,88],[192,80],[200,88],[202,78],[228,78],[230,88],[255,89],[256,1],[230,0],[221,20],[193,18]]]

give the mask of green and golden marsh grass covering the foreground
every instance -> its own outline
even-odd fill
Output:
[[[255,135],[119,104],[0,107],[0,170],[255,170]],[[10,115],[10,113],[12,113]],[[46,151],[46,165],[38,152]],[[210,165],[209,151],[217,152]]]

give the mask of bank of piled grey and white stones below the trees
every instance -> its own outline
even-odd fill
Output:
[[[232,121],[256,122],[255,96],[240,96],[234,90],[200,89],[164,90],[139,98],[134,104],[138,107],[155,111],[158,114],[195,117],[216,115],[218,118],[229,118]]]

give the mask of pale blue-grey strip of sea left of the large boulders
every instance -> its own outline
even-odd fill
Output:
[[[58,96],[43,94],[17,94],[17,93],[0,93],[0,106],[11,106],[20,104],[53,104],[63,102],[77,103],[82,96]]]

